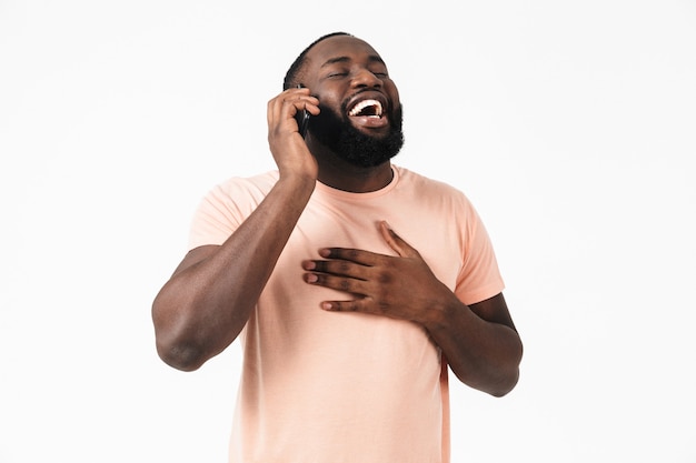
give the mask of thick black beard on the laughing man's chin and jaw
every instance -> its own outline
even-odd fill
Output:
[[[321,113],[309,121],[308,131],[321,144],[341,159],[359,168],[371,168],[386,162],[398,154],[404,145],[401,107],[390,111],[389,132],[384,138],[367,135],[352,127],[341,108],[336,114],[330,108],[319,105]]]

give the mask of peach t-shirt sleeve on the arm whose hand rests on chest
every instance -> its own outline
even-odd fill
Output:
[[[464,258],[455,293],[465,304],[485,301],[505,288],[496,254],[484,222],[465,199]]]

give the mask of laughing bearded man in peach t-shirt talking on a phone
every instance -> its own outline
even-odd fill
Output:
[[[401,104],[368,43],[320,38],[284,87],[278,170],[201,202],[153,303],[159,355],[196,370],[240,336],[230,462],[447,462],[448,365],[495,396],[518,379],[488,235],[464,194],[391,164]]]

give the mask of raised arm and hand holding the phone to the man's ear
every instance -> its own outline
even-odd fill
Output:
[[[317,164],[294,114],[318,113],[307,89],[287,90],[268,103],[268,140],[279,180],[221,245],[190,251],[152,303],[157,351],[169,365],[196,370],[239,334],[302,213]]]

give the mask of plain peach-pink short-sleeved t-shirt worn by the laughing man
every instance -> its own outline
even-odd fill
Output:
[[[435,275],[471,304],[503,291],[488,234],[454,188],[394,167],[386,188],[349,193],[321,183],[240,334],[243,369],[230,463],[447,463],[447,366],[411,322],[326,312],[348,294],[302,281],[319,248],[394,255],[386,220]],[[201,202],[190,248],[221,244],[278,179],[235,178]],[[415,291],[418,289],[415,288]]]

